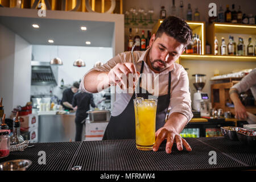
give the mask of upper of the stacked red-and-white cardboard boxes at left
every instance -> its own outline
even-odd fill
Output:
[[[20,127],[24,131],[32,131],[38,128],[38,114],[28,114],[20,116]]]

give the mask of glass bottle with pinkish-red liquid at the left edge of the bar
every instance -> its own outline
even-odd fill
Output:
[[[8,131],[0,132],[0,159],[10,154],[10,137]]]

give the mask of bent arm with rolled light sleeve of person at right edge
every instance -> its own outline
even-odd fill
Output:
[[[237,119],[246,119],[248,117],[246,108],[239,98],[239,94],[241,92],[246,92],[249,89],[251,89],[254,100],[256,100],[256,68],[229,90],[229,96],[234,104],[234,111]]]

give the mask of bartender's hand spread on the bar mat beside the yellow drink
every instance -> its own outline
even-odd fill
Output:
[[[189,146],[188,142],[181,138],[179,133],[175,129],[162,127],[158,131],[156,131],[156,140],[153,146],[153,151],[158,151],[160,144],[163,142],[164,139],[167,139],[166,143],[166,152],[170,154],[172,152],[172,146],[174,142],[176,142],[177,150],[183,150],[183,146],[186,148],[187,151],[191,151],[191,147]]]

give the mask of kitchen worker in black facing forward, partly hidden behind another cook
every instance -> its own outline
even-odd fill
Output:
[[[76,110],[77,107],[72,106],[73,96],[79,90],[79,82],[74,82],[71,88],[65,89],[61,100],[64,110]]]

